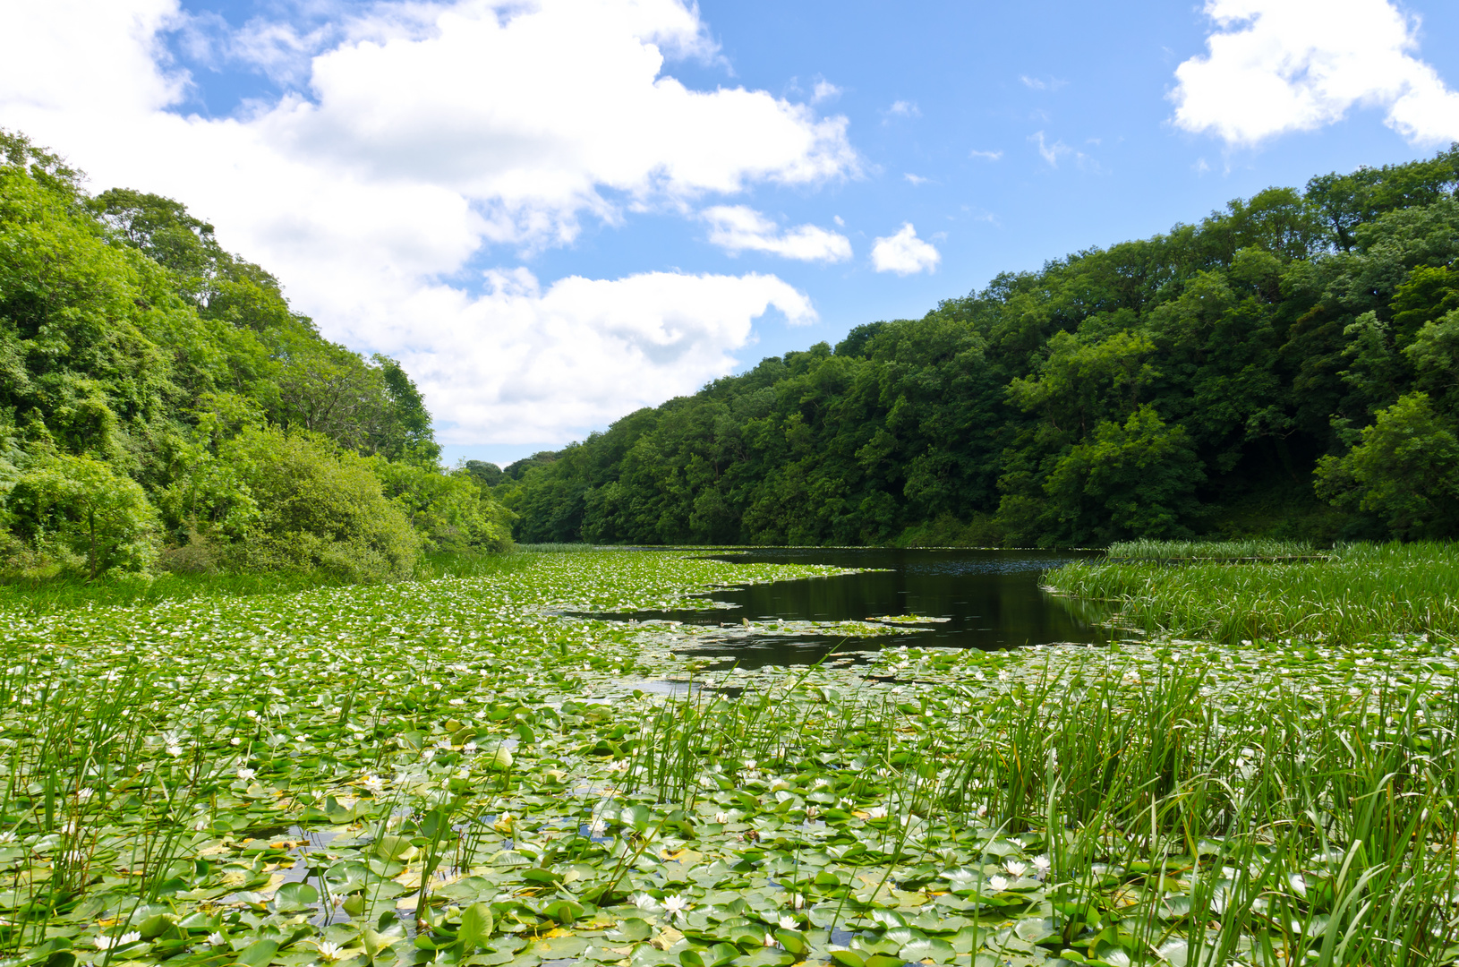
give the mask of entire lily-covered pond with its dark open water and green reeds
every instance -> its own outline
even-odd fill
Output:
[[[897,554],[12,589],[0,957],[1459,955],[1453,545]]]

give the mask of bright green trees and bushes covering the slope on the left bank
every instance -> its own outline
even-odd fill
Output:
[[[0,573],[411,573],[502,548],[398,363],[324,340],[177,201],[0,130]]]

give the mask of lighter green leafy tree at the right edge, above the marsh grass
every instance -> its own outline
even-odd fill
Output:
[[[1459,439],[1415,392],[1377,413],[1344,457],[1317,462],[1317,490],[1335,503],[1379,516],[1402,538],[1443,537],[1459,528]]]

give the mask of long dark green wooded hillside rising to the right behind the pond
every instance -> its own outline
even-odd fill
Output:
[[[496,493],[524,541],[1455,537],[1456,191],[1459,144],[1271,188],[766,359]]]

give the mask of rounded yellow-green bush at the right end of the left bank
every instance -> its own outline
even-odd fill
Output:
[[[369,458],[317,435],[248,427],[219,446],[217,462],[252,505],[222,518],[231,567],[321,569],[350,580],[406,578],[414,569],[420,540],[381,493]]]

